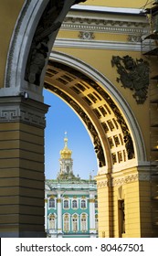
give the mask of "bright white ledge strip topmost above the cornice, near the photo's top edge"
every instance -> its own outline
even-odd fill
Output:
[[[140,15],[142,9],[137,8],[120,8],[120,7],[106,7],[106,6],[94,6],[94,5],[73,5],[71,10],[79,11],[93,11],[93,12],[103,12],[103,13],[120,13],[120,14],[132,14]]]

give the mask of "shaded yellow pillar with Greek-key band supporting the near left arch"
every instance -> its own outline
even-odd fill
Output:
[[[44,129],[48,106],[0,98],[0,236],[45,237]]]

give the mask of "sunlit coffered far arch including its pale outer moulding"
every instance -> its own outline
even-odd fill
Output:
[[[53,52],[44,86],[67,102],[86,126],[100,173],[101,169],[108,173],[145,161],[142,136],[128,104],[97,70]]]

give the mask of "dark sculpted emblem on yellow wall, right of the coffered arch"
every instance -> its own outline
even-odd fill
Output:
[[[112,67],[116,66],[123,88],[130,89],[133,98],[138,104],[142,104],[147,99],[149,87],[149,63],[143,59],[132,59],[129,55],[124,57],[113,56]]]

